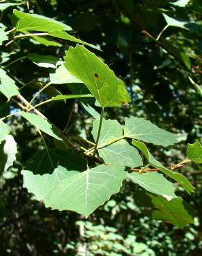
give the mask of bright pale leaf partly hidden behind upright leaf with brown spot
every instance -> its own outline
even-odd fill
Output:
[[[50,73],[50,82],[53,84],[69,84],[69,83],[83,83],[81,80],[74,77],[62,64],[55,70],[54,73]]]

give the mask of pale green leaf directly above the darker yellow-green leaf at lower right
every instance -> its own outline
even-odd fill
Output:
[[[154,194],[160,194],[160,196],[165,197],[167,200],[176,197],[174,194],[174,185],[167,181],[163,174],[158,174],[158,172],[147,172],[143,174],[131,172],[127,174],[127,177],[134,183],[140,185],[140,187],[145,188],[145,190]]]

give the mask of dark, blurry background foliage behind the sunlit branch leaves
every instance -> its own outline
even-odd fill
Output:
[[[107,118],[124,116],[144,117],[159,127],[176,134],[185,134],[175,147],[151,147],[159,161],[169,166],[185,157],[187,143],[200,140],[201,98],[187,75],[201,84],[202,6],[191,0],[180,8],[176,1],[154,0],[32,0],[22,1],[17,8],[52,17],[72,26],[74,34],[91,44],[99,44],[102,53],[95,53],[106,62],[116,75],[125,80],[132,102],[129,106],[107,109]],[[190,30],[170,27],[159,42],[155,38],[166,25],[162,12],[171,17],[197,22]],[[10,26],[8,8],[1,22]],[[176,48],[165,48],[164,39]],[[60,42],[60,39],[57,39]],[[36,44],[33,39],[17,39],[1,47],[1,65],[6,66],[28,53],[63,57],[71,42],[61,48]],[[166,51],[167,49],[167,51]],[[189,70],[178,57],[183,51],[190,57]],[[168,53],[169,52],[169,53]],[[9,75],[24,87],[28,100],[48,80],[46,68],[35,66],[30,60],[21,60],[8,66]],[[54,86],[68,92],[65,86]],[[53,94],[53,88],[42,95]],[[6,99],[0,95],[1,102]],[[41,99],[38,99],[41,100]],[[56,125],[64,128],[73,100],[48,104],[40,109]],[[3,104],[1,104],[3,106]],[[11,109],[0,109],[3,116]],[[99,110],[99,109],[98,109]],[[72,134],[90,137],[91,118],[78,105],[71,120]],[[125,182],[120,194],[111,197],[89,219],[74,212],[58,212],[44,208],[22,187],[20,170],[37,149],[43,147],[37,132],[20,118],[10,118],[12,134],[19,147],[15,166],[10,176],[0,178],[0,255],[201,255],[201,169],[187,165],[182,172],[196,188],[192,196],[178,189],[196,210],[195,223],[183,230],[170,223],[155,221],[141,205],[140,188]],[[48,136],[47,136],[48,140]],[[53,146],[53,142],[48,141]]]

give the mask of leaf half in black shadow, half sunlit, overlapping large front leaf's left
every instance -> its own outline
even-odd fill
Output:
[[[42,200],[62,180],[85,169],[84,158],[71,149],[48,149],[30,158],[21,174],[24,176],[24,188],[35,194],[37,200]]]

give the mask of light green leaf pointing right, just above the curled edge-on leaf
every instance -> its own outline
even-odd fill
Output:
[[[143,140],[147,143],[169,146],[177,143],[176,136],[169,131],[158,128],[144,118],[125,118],[124,136]]]

